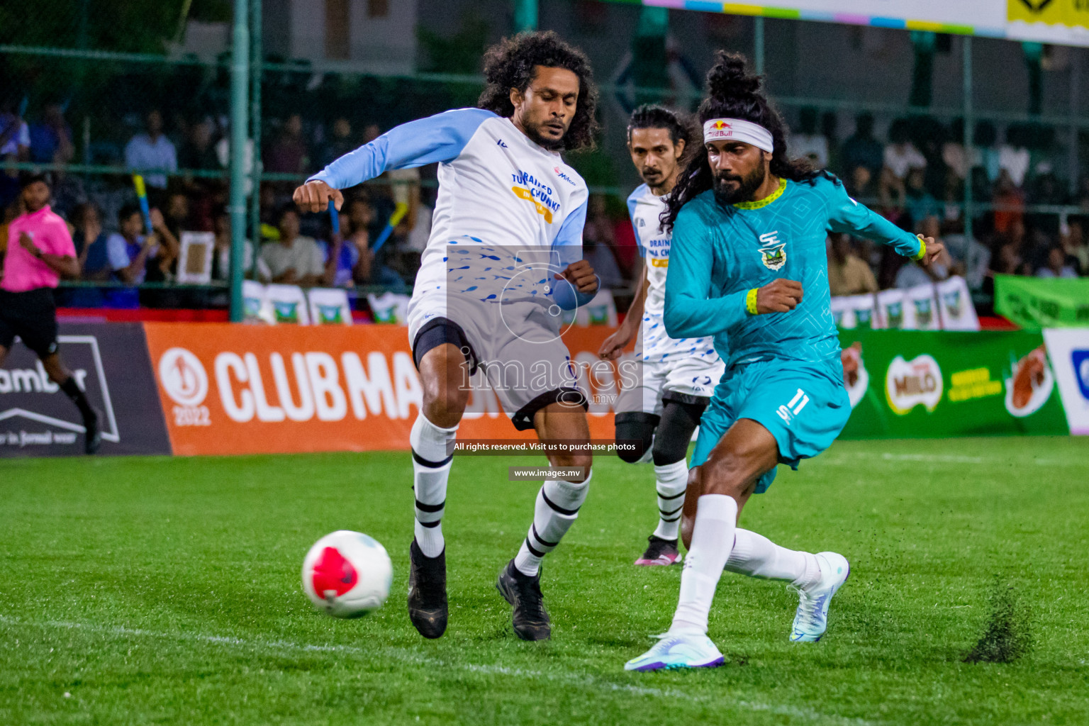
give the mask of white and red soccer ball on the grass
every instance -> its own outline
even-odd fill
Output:
[[[390,595],[393,565],[386,547],[360,532],[342,529],[318,540],[303,561],[303,591],[333,617],[359,617]]]

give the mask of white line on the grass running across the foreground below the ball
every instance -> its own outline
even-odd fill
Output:
[[[73,623],[64,620],[22,620],[19,618],[0,615],[0,624],[23,627],[52,628],[62,630],[83,630],[87,632],[101,633],[118,638],[154,638],[159,640],[191,641],[211,643],[213,645],[227,645],[242,648],[258,653],[272,652],[296,652],[296,653],[346,653],[352,655],[365,655],[374,657],[374,651],[366,651],[353,645],[316,645],[310,643],[296,643],[287,640],[254,640],[245,638],[234,638],[230,636],[211,636],[197,632],[160,632],[146,630],[143,628],[126,628],[124,626],[100,626],[88,623]],[[393,657],[403,663],[414,665],[426,665],[431,667],[453,668],[479,673],[489,676],[512,676],[516,678],[543,679],[580,686],[597,690],[619,691],[633,696],[649,696],[663,699],[680,699],[692,702],[718,703],[723,706],[732,706],[739,711],[767,712],[781,716],[788,716],[804,722],[824,722],[842,724],[843,726],[876,726],[879,722],[865,721],[862,718],[846,718],[834,714],[825,714],[813,709],[799,709],[791,705],[775,705],[772,703],[761,703],[759,701],[731,701],[726,697],[714,698],[709,696],[693,696],[677,688],[652,688],[646,686],[632,686],[628,684],[616,684],[591,675],[578,675],[575,673],[546,673],[542,670],[528,670],[525,668],[512,668],[501,665],[481,665],[476,663],[462,663],[457,661],[445,661],[441,659],[419,655],[403,648],[382,648],[381,655]],[[617,666],[619,667],[619,666]]]

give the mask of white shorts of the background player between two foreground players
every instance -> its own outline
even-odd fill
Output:
[[[683,403],[707,403],[726,369],[718,356],[708,358],[694,356],[643,362],[639,383],[620,392],[616,413],[643,411],[661,416],[666,398]]]

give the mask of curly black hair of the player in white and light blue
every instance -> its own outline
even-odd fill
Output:
[[[575,118],[563,137],[567,150],[589,150],[595,146],[598,122],[594,113],[598,104],[598,87],[586,53],[566,44],[552,30],[519,33],[503,38],[484,54],[487,86],[477,106],[501,116],[514,114],[511,89],[525,91],[534,79],[538,65],[566,69],[578,76],[578,103]]]

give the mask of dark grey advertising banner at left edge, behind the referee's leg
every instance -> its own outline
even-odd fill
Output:
[[[99,414],[103,455],[170,454],[139,323],[62,323],[60,354]],[[0,368],[0,456],[82,455],[83,419],[16,342]]]

